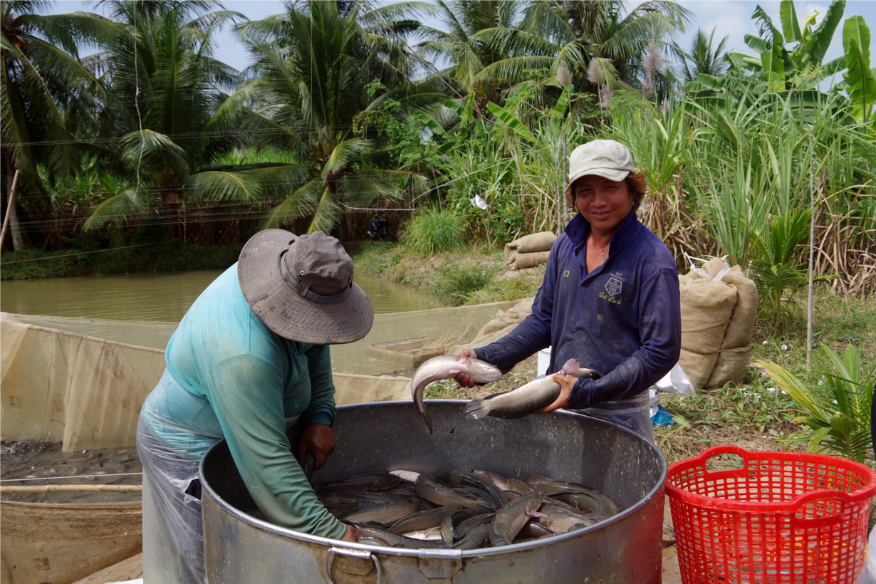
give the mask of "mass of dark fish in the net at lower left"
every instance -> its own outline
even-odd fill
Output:
[[[141,484],[137,447],[64,452],[60,442],[0,440],[0,485]],[[22,503],[137,502],[139,493],[0,494],[0,501]]]

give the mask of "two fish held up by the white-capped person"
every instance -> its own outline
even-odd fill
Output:
[[[593,369],[582,369],[577,359],[569,359],[558,371],[573,377],[597,378]],[[432,433],[432,418],[426,411],[423,392],[429,383],[439,379],[449,379],[459,373],[468,374],[475,383],[498,381],[502,371],[495,365],[475,358],[459,361],[459,355],[441,355],[424,362],[413,374],[411,397],[420,416],[426,420],[429,433]],[[503,419],[524,418],[548,407],[560,396],[560,383],[552,376],[535,379],[521,385],[514,391],[494,393],[484,399],[475,399],[465,406],[465,415],[470,419],[484,419],[487,416]]]

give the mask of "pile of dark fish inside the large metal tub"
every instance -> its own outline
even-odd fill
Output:
[[[618,507],[596,489],[486,470],[435,475],[393,470],[316,487],[335,517],[356,524],[357,542],[473,550],[549,538],[597,524]]]

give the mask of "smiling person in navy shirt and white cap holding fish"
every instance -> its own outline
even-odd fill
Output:
[[[592,408],[591,414],[653,440],[641,397],[678,362],[678,268],[666,245],[636,217],[645,178],[624,145],[594,140],[572,151],[569,163],[567,193],[579,214],[554,243],[533,313],[504,338],[465,349],[460,360],[477,357],[507,372],[550,346],[548,371],[574,357],[600,378],[555,374],[562,392],[540,413]],[[474,385],[464,373],[456,379]]]

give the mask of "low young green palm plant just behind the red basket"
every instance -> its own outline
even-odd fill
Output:
[[[858,348],[851,343],[842,357],[827,345],[820,349],[828,367],[809,374],[806,380],[774,362],[755,365],[766,370],[800,406],[802,413],[794,421],[809,430],[799,438],[808,441],[810,452],[830,452],[861,463],[872,461],[870,418],[876,367],[865,371]]]

